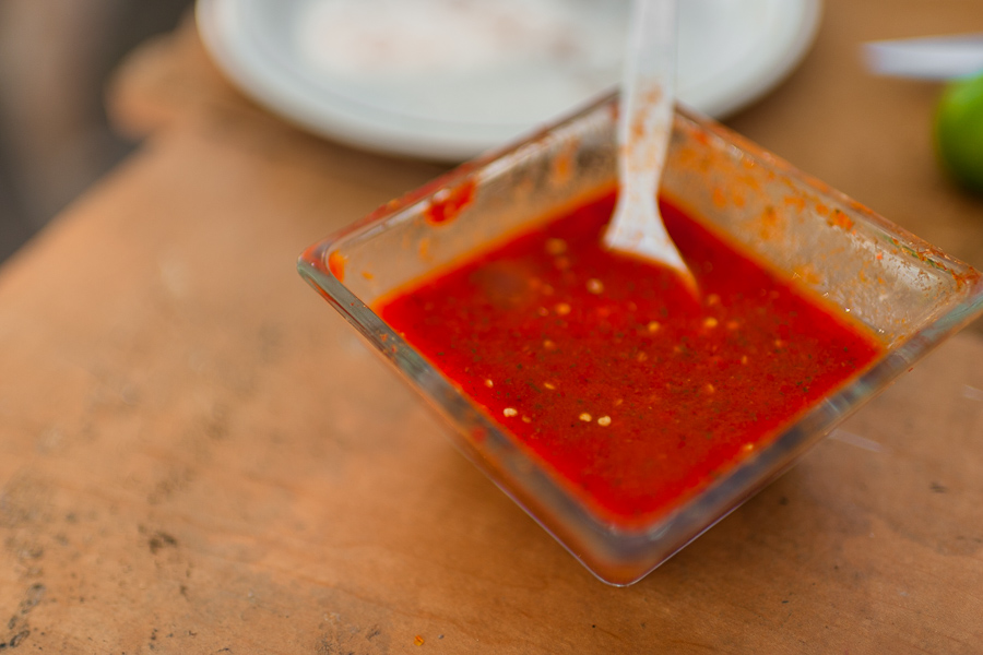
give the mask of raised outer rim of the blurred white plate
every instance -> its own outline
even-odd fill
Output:
[[[702,83],[697,97],[686,103],[713,118],[724,118],[759,99],[798,67],[812,48],[821,19],[821,0],[766,0],[787,12],[783,25],[789,29],[768,39],[767,47],[755,50],[753,66],[743,74],[729,70],[725,79]],[[323,88],[310,93],[300,75],[262,51],[262,44],[246,29],[229,29],[241,20],[237,12],[250,2],[239,0],[197,0],[196,23],[202,44],[229,81],[259,105],[289,122],[329,140],[388,155],[436,162],[462,162],[505,142],[521,138],[550,118],[531,122],[511,136],[502,126],[426,121],[419,117],[382,111],[369,104],[359,105],[344,95],[325,96]],[[584,97],[583,103],[608,94],[614,85]],[[707,88],[710,91],[708,92]],[[496,132],[498,130],[498,132]]]

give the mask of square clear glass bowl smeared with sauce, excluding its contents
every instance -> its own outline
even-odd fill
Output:
[[[865,324],[885,355],[696,496],[641,525],[613,523],[568,491],[371,307],[611,189],[616,121],[616,99],[607,97],[390,202],[311,246],[298,267],[446,419],[475,465],[597,577],[623,585],[724,517],[983,311],[983,279],[757,145],[679,109],[662,193],[759,264]]]

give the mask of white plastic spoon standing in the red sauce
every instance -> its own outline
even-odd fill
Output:
[[[618,114],[618,202],[604,245],[662,263],[696,289],[656,201],[675,111],[676,0],[632,4]]]

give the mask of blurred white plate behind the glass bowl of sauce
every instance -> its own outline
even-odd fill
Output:
[[[820,0],[683,0],[678,92],[721,118],[805,55]],[[462,160],[611,90],[626,0],[198,0],[247,94],[324,136]]]

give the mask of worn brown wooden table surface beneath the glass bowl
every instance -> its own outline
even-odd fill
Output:
[[[937,86],[857,59],[866,39],[981,22],[975,0],[828,0],[802,68],[729,122],[983,265],[983,203],[932,158]],[[609,587],[294,270],[440,167],[263,112],[190,23],[129,59],[109,108],[141,151],[0,270],[7,648],[983,650],[979,327],[646,580]]]

